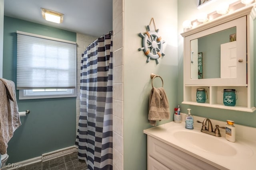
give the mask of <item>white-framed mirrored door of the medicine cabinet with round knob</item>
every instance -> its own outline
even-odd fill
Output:
[[[211,26],[184,34],[184,83],[246,85],[246,16]]]

